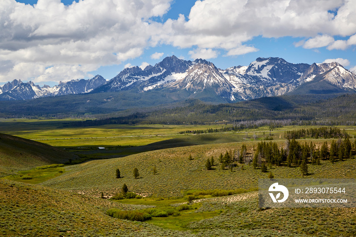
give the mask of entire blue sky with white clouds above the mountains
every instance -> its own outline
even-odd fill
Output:
[[[55,85],[166,56],[356,70],[356,0],[0,0],[0,85]]]

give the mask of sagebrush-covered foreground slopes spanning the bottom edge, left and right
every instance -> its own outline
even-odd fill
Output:
[[[142,209],[37,185],[0,180],[2,236],[354,236],[354,208],[258,209],[257,193],[201,201],[190,215],[220,211],[204,220],[179,217],[147,222],[118,220],[106,210]],[[157,222],[159,221],[159,223]],[[175,223],[174,223],[175,222]],[[21,224],[19,224],[21,223]],[[157,227],[159,225],[163,228]],[[188,231],[167,228],[180,226]]]

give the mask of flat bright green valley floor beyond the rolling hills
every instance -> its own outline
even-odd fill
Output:
[[[189,130],[220,129],[231,127],[231,124],[210,125],[102,125],[96,127],[65,127],[72,119],[66,120],[2,120],[0,121],[0,132],[19,136],[26,139],[61,147],[80,146],[127,146],[147,145],[167,139],[180,138],[179,132]],[[312,128],[317,126],[307,126]],[[337,126],[340,129],[348,129],[355,136],[356,127]],[[301,129],[300,126],[285,126],[275,128],[272,133],[274,139],[283,138],[285,130]],[[241,136],[257,136],[259,138],[268,136],[268,126],[239,131]],[[264,135],[263,135],[264,134]]]

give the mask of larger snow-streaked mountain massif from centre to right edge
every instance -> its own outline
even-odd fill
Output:
[[[332,69],[334,71],[330,71]],[[173,55],[155,66],[147,66],[144,70],[139,67],[125,69],[94,92],[184,90],[191,97],[199,93],[211,93],[227,102],[233,102],[283,95],[325,72],[328,72],[325,78],[330,83],[354,88],[354,74],[337,63],[291,64],[283,58],[259,57],[249,66],[222,70],[205,60],[191,62]]]

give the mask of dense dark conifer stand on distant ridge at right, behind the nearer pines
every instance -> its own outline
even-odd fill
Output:
[[[286,139],[301,139],[301,138],[349,138],[350,135],[345,131],[336,127],[321,127],[309,129],[297,129],[286,131],[284,134]]]

